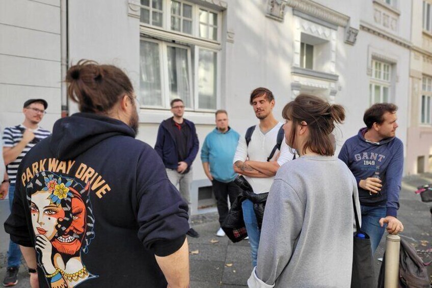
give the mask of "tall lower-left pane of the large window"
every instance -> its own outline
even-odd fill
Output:
[[[149,106],[162,106],[159,44],[141,41],[140,74],[141,103]]]

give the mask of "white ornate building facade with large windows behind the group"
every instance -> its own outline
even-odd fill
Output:
[[[201,143],[214,128],[217,109],[227,110],[231,127],[244,134],[258,123],[249,95],[259,86],[274,92],[274,112],[280,121],[284,104],[300,93],[342,104],[347,117],[336,131],[338,148],[364,126],[363,113],[372,103],[394,102],[400,108],[397,136],[407,144],[413,113],[408,107],[411,21],[419,17],[412,7],[416,1],[111,0],[108,5],[102,0],[62,0],[55,7],[59,15],[67,12],[67,50],[61,43],[52,46],[61,51],[56,59],[65,54],[68,65],[85,58],[127,72],[141,103],[138,138],[150,145],[156,141],[159,123],[172,116],[173,98],[183,99],[184,117],[196,123]],[[11,3],[0,0],[0,5]],[[57,17],[62,27],[63,18]],[[58,110],[48,109],[46,128],[60,117],[62,107],[77,111],[60,91],[62,66],[57,61],[57,70],[47,73],[58,77],[57,94],[50,99]],[[15,97],[13,91],[3,95],[2,107]],[[2,109],[2,125],[19,121],[3,116],[12,111]],[[199,207],[209,203],[205,198],[211,183],[201,167],[198,155],[194,214],[207,211]]]

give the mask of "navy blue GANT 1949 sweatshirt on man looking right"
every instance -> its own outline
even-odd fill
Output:
[[[357,136],[349,138],[343,144],[339,159],[345,162],[357,180],[372,177],[378,170],[382,180],[381,192],[369,195],[369,191],[360,188],[359,199],[362,205],[385,206],[387,216],[397,216],[399,192],[403,172],[403,144],[398,138],[386,138],[379,143],[371,143],[364,138],[367,128],[359,130]]]

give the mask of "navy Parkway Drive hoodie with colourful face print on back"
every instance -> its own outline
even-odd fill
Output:
[[[155,254],[185,240],[187,203],[125,123],[58,120],[18,169],[11,240],[37,251],[40,287],[166,287]]]

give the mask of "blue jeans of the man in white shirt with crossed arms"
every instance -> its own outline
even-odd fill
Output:
[[[243,210],[243,219],[245,220],[246,230],[248,231],[249,243],[251,244],[252,267],[255,267],[261,231],[258,229],[252,201],[246,199],[241,203],[241,208]]]

